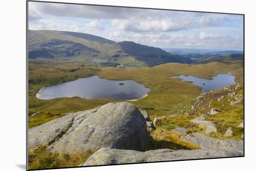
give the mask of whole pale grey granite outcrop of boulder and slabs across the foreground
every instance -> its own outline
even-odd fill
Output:
[[[173,131],[184,135],[181,140],[190,141],[201,149],[144,152],[149,144],[146,121],[152,122],[148,112],[138,110],[132,103],[108,103],[30,128],[29,149],[47,146],[51,152],[68,154],[99,149],[81,166],[243,156],[243,141],[187,134],[184,128]],[[154,123],[157,129],[159,125]]]

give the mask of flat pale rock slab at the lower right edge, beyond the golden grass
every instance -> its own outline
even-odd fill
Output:
[[[241,152],[243,154],[243,141],[236,141],[232,139],[216,139],[201,133],[192,133],[180,137],[180,139],[190,141],[200,146],[201,149],[204,150],[222,149],[231,152]]]

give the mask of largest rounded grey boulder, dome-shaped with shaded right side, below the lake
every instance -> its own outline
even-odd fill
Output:
[[[146,121],[132,103],[108,103],[68,116],[72,118],[72,123],[65,130],[66,133],[48,146],[53,152],[86,152],[102,147],[144,151],[148,146]],[[65,118],[63,120],[66,121]],[[59,128],[59,124],[58,121],[54,122],[54,128]],[[44,132],[49,125],[43,124],[35,129]],[[33,134],[33,137],[37,137],[37,134]]]

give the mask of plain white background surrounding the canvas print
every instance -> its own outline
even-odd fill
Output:
[[[55,0],[58,1],[58,0]],[[189,170],[241,171],[255,168],[255,9],[253,1],[244,0],[59,0],[115,6],[136,6],[178,10],[245,14],[245,157],[167,163],[116,165],[60,171],[131,171],[131,170]],[[25,170],[26,164],[26,1],[5,0],[1,16],[1,82],[0,157],[2,171]],[[58,171],[58,170],[53,170]]]

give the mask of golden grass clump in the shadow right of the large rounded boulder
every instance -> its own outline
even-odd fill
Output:
[[[200,149],[200,146],[195,145],[189,141],[181,140],[181,133],[174,133],[166,131],[162,127],[157,127],[155,131],[150,132],[151,141],[149,143],[149,150],[168,148],[172,150],[195,150]]]

